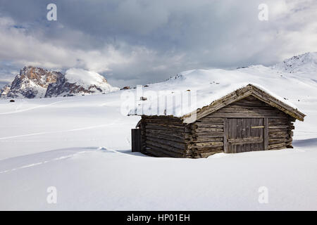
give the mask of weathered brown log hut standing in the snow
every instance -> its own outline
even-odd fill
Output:
[[[304,114],[254,85],[237,89],[182,117],[142,115],[132,151],[156,157],[206,158],[214,153],[292,148]]]

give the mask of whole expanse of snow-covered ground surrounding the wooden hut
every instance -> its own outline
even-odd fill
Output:
[[[123,91],[1,100],[0,210],[317,210],[317,83],[263,66],[235,72],[307,115],[294,149],[151,158],[130,152],[139,117],[120,113]],[[144,90],[212,89],[232,82],[223,73],[192,70]],[[46,202],[49,186],[56,204]]]

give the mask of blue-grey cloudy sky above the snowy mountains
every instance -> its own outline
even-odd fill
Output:
[[[0,83],[25,65],[93,70],[115,86],[273,65],[317,51],[316,12],[316,0],[0,0]]]

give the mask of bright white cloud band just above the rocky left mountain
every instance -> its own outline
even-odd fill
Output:
[[[56,46],[54,42],[42,41],[15,27],[11,18],[0,18],[0,60],[13,60],[20,65],[42,66],[44,68],[81,67],[96,72],[111,70],[111,65],[125,64],[131,56],[106,45],[99,50],[70,49]],[[137,55],[134,49],[134,55]]]

